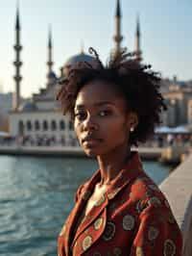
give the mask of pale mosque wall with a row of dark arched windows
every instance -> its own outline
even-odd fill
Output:
[[[29,137],[32,141],[52,140],[63,145],[78,143],[69,116],[56,111],[12,113],[10,132],[12,136]]]

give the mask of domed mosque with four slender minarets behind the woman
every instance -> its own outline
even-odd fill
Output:
[[[56,93],[59,90],[57,85],[57,79],[64,77],[67,69],[80,61],[92,62],[94,58],[82,51],[80,54],[72,56],[66,63],[60,68],[60,77],[57,77],[53,71],[53,46],[52,46],[52,34],[49,31],[48,37],[48,73],[46,88],[40,89],[38,93],[34,93],[32,98],[27,102],[21,103],[20,87],[21,87],[21,66],[20,53],[22,51],[22,45],[20,42],[20,22],[19,22],[19,10],[16,11],[15,22],[15,45],[13,46],[15,51],[15,92],[12,99],[12,111],[10,113],[10,133],[14,137],[26,138],[26,143],[37,144],[54,144],[61,143],[63,145],[77,145],[75,139],[73,125],[69,119],[69,116],[63,116],[60,110],[60,104],[56,101]],[[121,49],[121,41],[123,36],[121,35],[121,6],[120,1],[116,1],[115,11],[115,35],[114,49],[112,53],[118,53]],[[140,29],[139,20],[136,22],[135,33],[135,58],[141,60],[140,50]]]

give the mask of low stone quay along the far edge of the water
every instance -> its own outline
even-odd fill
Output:
[[[162,164],[179,165],[183,156],[191,152],[190,147],[183,145],[176,146],[139,146],[132,147],[132,150],[139,152],[139,155],[144,160],[160,161]],[[63,146],[63,145],[22,145],[0,144],[0,155],[14,155],[14,156],[44,156],[44,157],[85,157],[84,151],[80,146]]]

